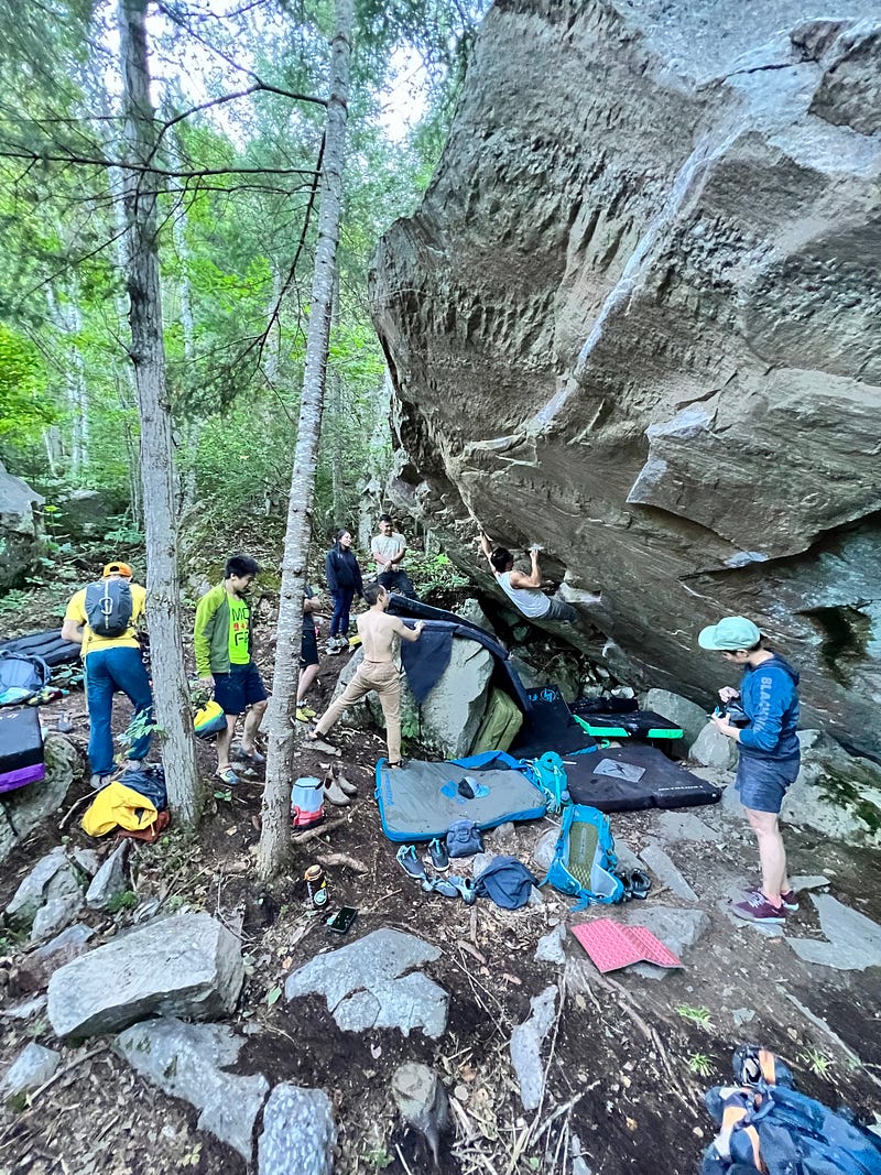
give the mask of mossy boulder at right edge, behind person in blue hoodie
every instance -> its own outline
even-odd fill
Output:
[[[834,840],[881,845],[881,766],[848,754],[821,731],[799,731],[801,770],[784,818]]]

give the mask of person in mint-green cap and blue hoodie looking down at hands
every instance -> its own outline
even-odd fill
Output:
[[[784,922],[787,911],[799,908],[789,887],[780,834],[784,795],[799,774],[799,673],[784,657],[765,647],[761,632],[744,616],[726,616],[702,629],[698,644],[717,650],[729,665],[744,671],[740,690],[725,686],[719,691],[725,707],[739,699],[745,716],[739,719],[741,725],[735,725],[727,712],[712,719],[717,730],[738,744],[734,786],[759,841],[761,862],[761,888],[737,902],[733,913],[751,922]]]

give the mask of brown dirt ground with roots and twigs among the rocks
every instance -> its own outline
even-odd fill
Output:
[[[321,712],[332,693],[343,657],[323,658],[312,700]],[[52,728],[69,713],[72,736],[85,751],[85,699],[74,694],[43,707]],[[125,723],[125,717],[122,717]],[[391,1076],[403,1061],[424,1061],[441,1074],[452,1103],[455,1133],[444,1140],[443,1175],[569,1175],[579,1153],[593,1175],[699,1169],[714,1133],[704,1092],[727,1082],[731,1054],[744,1042],[761,1042],[793,1067],[799,1088],[830,1106],[847,1104],[869,1123],[881,1108],[881,1003],[876,971],[836,972],[802,964],[780,936],[769,936],[726,913],[733,884],[754,879],[752,839],[721,805],[695,810],[718,833],[714,841],[681,841],[667,851],[711,919],[708,933],[686,952],[685,967],[663,980],[632,971],[598,974],[571,935],[565,968],[533,960],[538,939],[556,924],[571,926],[608,911],[572,914],[570,900],[543,889],[544,902],[505,912],[482,899],[460,901],[424,894],[395,861],[382,834],[374,799],[374,766],[383,743],[371,733],[337,727],[337,760],[356,783],[359,798],[329,812],[321,835],[295,847],[288,877],[271,887],[255,881],[261,783],[243,780],[229,799],[215,795],[196,838],[180,830],[132,854],[139,901],[161,901],[162,912],[197,908],[228,924],[241,918],[248,976],[233,1026],[247,1035],[236,1067],[263,1073],[270,1082],[318,1086],[331,1096],[339,1129],[339,1175],[415,1175],[436,1168],[417,1135],[396,1114]],[[411,753],[417,747],[409,748]],[[211,748],[200,745],[206,778]],[[312,748],[300,756],[302,774],[321,774],[330,763]],[[74,801],[86,799],[85,779],[72,788],[63,813],[46,821],[7,862],[0,902],[9,900],[39,857],[69,835],[95,846],[79,827],[79,811],[59,828]],[[612,818],[616,839],[639,852],[657,833],[658,813]],[[518,828],[506,852],[530,864],[530,851],[549,820]],[[830,844],[803,830],[787,830],[792,872],[823,872],[839,899],[881,920],[881,861],[877,854]],[[107,846],[107,852],[110,851]],[[101,845],[99,848],[103,852]],[[493,837],[487,837],[487,851]],[[446,1033],[339,1030],[315,996],[287,1005],[278,988],[316,953],[341,945],[308,905],[302,874],[324,859],[330,906],[358,909],[342,941],[378,927],[396,927],[437,946],[441,959],[426,972],[451,995]],[[538,872],[537,870],[534,870]],[[685,905],[654,889],[652,904]],[[102,939],[117,933],[132,912],[89,915]],[[819,935],[805,897],[787,933]],[[8,944],[0,961],[4,1006],[29,994],[21,949]],[[560,986],[559,1013],[545,1042],[545,1090],[534,1113],[524,1113],[509,1055],[513,1027],[529,1015],[530,999]],[[787,998],[794,996],[796,1007]],[[809,1009],[809,1019],[803,1008]],[[738,1027],[749,1013],[752,1016]],[[826,1021],[827,1027],[823,1027]],[[59,1045],[45,1016],[22,1023],[5,1019],[4,1068],[29,1040],[59,1049],[58,1077],[31,1103],[0,1117],[0,1175],[122,1175],[122,1173],[243,1173],[244,1163],[213,1136],[195,1128],[186,1103],[147,1086],[110,1048],[109,1040]]]

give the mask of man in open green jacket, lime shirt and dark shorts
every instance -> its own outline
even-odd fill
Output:
[[[260,572],[247,555],[227,559],[224,579],[199,602],[193,647],[200,684],[214,690],[214,698],[227,716],[227,728],[217,736],[217,778],[228,787],[238,783],[229,761],[238,716],[244,719],[238,758],[250,766],[265,763],[254,738],[267,709],[267,691],[251,657],[251,609],[247,598],[251,580]]]

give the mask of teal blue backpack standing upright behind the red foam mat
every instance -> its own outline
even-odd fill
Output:
[[[586,804],[567,804],[553,860],[544,881],[560,893],[577,898],[573,909],[591,902],[613,905],[624,897],[624,886],[614,875],[618,858],[608,818]]]

